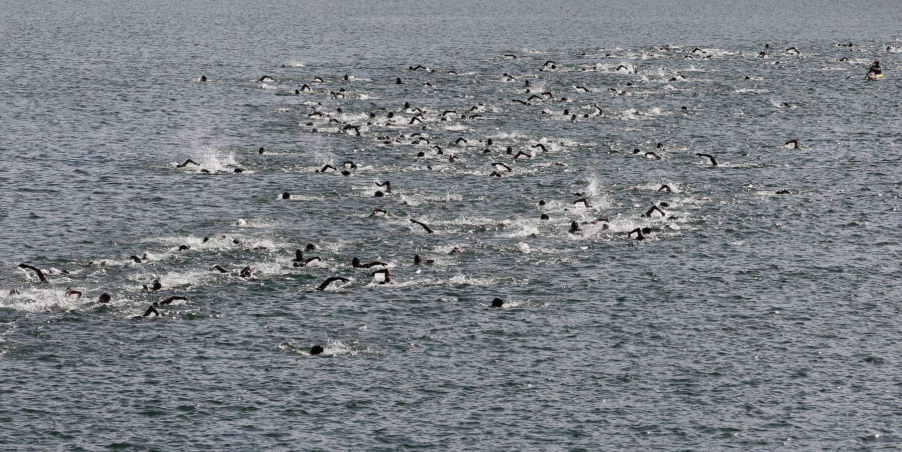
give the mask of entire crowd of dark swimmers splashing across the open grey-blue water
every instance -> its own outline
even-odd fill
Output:
[[[838,44],[840,46],[851,46],[852,44]],[[661,51],[671,51],[669,46],[665,46],[660,48]],[[789,47],[786,49],[787,52],[798,54],[799,51],[796,47]],[[708,54],[707,51],[704,51],[700,48],[695,48],[689,52],[690,55],[700,56],[703,58],[711,58],[712,55]],[[767,58],[770,55],[769,44],[765,45],[765,49],[759,52],[760,58]],[[518,60],[520,57],[513,53],[507,53],[503,55],[504,58],[511,60]],[[611,56],[608,54],[608,56]],[[284,66],[283,66],[284,67]],[[558,69],[558,63],[553,60],[548,60],[540,67],[536,68],[538,73],[548,73],[553,72]],[[430,69],[424,65],[410,65],[408,70],[411,72],[415,71],[423,71],[426,73],[435,72],[435,69]],[[624,74],[636,74],[637,71],[635,68],[630,68],[624,64],[613,69],[615,72],[620,72]],[[448,70],[448,74],[456,75],[456,71]],[[875,60],[873,65],[870,66],[868,70],[868,76],[871,75],[882,75],[882,69],[880,67],[879,60]],[[519,81],[519,76],[514,74],[509,74],[507,72],[502,74],[502,80],[504,82],[515,82]],[[681,81],[685,80],[683,76],[676,76],[670,78],[670,81]],[[745,79],[750,79],[746,77]],[[207,82],[209,79],[207,76],[201,76],[199,81]],[[257,82],[266,83],[272,82],[275,79],[272,76],[262,76],[261,78],[257,78]],[[345,75],[344,80],[347,82],[354,81],[354,76]],[[310,82],[311,84],[323,83],[325,82],[324,78],[317,77],[313,78]],[[395,85],[404,85],[408,82],[405,82],[401,77],[396,77],[393,80],[393,84]],[[432,84],[428,81],[423,83],[423,86],[431,86]],[[632,83],[629,82],[626,84],[627,87],[631,87]],[[562,95],[561,93],[552,92],[551,90],[544,90],[542,88],[537,87],[536,80],[530,81],[529,79],[523,80],[522,91],[524,98],[514,98],[511,99],[511,103],[515,104],[515,106],[529,107],[529,106],[547,106],[552,102],[572,102],[575,99],[568,98],[566,95]],[[299,95],[301,93],[310,92],[313,88],[308,85],[308,83],[303,83],[299,88],[294,89],[294,94]],[[588,88],[582,85],[577,85],[574,87],[576,93],[580,94],[590,94],[593,92],[598,92],[597,89]],[[615,88],[608,88],[608,91],[614,93],[618,96],[627,95],[627,91],[619,90]],[[345,99],[347,96],[347,91],[345,88],[340,88],[337,91],[332,90],[329,92],[329,95],[333,99]],[[791,106],[788,103],[784,102],[781,106]],[[681,110],[687,110],[686,106],[682,106]],[[479,120],[483,118],[483,115],[486,112],[486,106],[483,103],[476,103],[473,106],[465,109],[460,109],[459,111],[454,108],[446,108],[439,109],[441,113],[429,113],[428,109],[425,107],[412,105],[410,102],[405,102],[403,106],[398,107],[396,110],[389,110],[387,108],[379,108],[374,111],[365,112],[366,120],[359,123],[348,123],[345,122],[342,118],[345,114],[342,107],[337,107],[335,110],[327,109],[327,107],[323,106],[322,103],[317,103],[315,106],[311,106],[310,113],[307,115],[307,122],[304,123],[305,127],[308,127],[308,132],[310,133],[324,133],[326,132],[326,125],[334,125],[335,130],[338,134],[347,134],[354,137],[359,137],[361,139],[371,139],[375,143],[380,144],[399,144],[399,145],[412,145],[412,146],[426,146],[426,148],[421,148],[423,150],[418,151],[416,155],[413,157],[414,159],[426,159],[427,157],[430,159],[440,159],[445,160],[448,163],[460,162],[461,157],[454,152],[463,154],[465,151],[472,151],[472,146],[476,146],[481,148],[481,152],[483,154],[497,154],[498,157],[492,157],[489,163],[489,167],[491,168],[491,172],[487,172],[487,175],[492,178],[503,178],[508,175],[512,175],[517,170],[516,161],[531,161],[536,159],[538,155],[543,153],[549,153],[549,147],[552,146],[551,143],[546,142],[538,142],[531,143],[529,147],[524,149],[514,149],[513,145],[507,145],[500,143],[495,143],[491,137],[466,137],[466,136],[458,136],[453,140],[448,140],[447,142],[440,142],[437,136],[430,136],[425,133],[425,131],[432,130],[430,125],[435,123],[447,123],[453,120],[461,120],[461,121],[469,121],[469,120]],[[602,106],[598,105],[597,101],[586,104],[582,107],[582,110],[585,113],[579,113],[578,111],[571,111],[571,108],[563,108],[560,112],[560,115],[568,118],[572,122],[582,121],[582,120],[592,120],[598,117],[604,117],[604,109]],[[399,116],[396,116],[396,113],[408,113],[410,114],[409,120],[400,120]],[[540,115],[558,115],[557,112],[549,109],[542,108],[538,114]],[[323,122],[325,125],[320,124],[317,125],[315,121]],[[407,133],[380,133],[380,134],[370,134],[370,129],[376,127],[385,127],[396,129],[399,127],[407,127],[415,130],[416,132],[407,132]],[[791,146],[791,149],[801,149],[799,141],[797,139],[788,140],[784,144],[785,146]],[[639,148],[635,148],[631,153],[632,154],[641,154],[645,158],[650,160],[662,160],[662,154],[667,151],[667,146],[664,143],[658,143],[657,148],[649,151],[642,151]],[[259,147],[257,150],[259,155],[266,154],[266,149],[264,147]],[[667,154],[664,154],[665,156]],[[706,164],[710,167],[719,167],[719,162],[715,155],[711,152],[695,152],[695,157],[704,159]],[[509,161],[502,161],[502,159],[507,158]],[[538,160],[538,159],[536,159]],[[566,163],[560,161],[549,161],[549,166],[566,166]],[[434,165],[432,163],[426,165],[427,169],[432,170]],[[181,163],[176,165],[177,168],[189,168],[189,167],[197,167],[199,171],[202,173],[210,173],[212,171],[207,168],[202,167],[201,163],[198,161],[187,159]],[[320,174],[327,173],[335,173],[340,174],[345,177],[352,177],[355,174],[355,171],[358,171],[358,164],[354,161],[347,160],[342,162],[340,165],[333,165],[331,163],[325,163],[322,167],[319,167],[314,172]],[[244,168],[235,167],[231,172],[233,173],[242,173],[244,172]],[[484,174],[484,173],[483,173]],[[373,198],[385,198],[386,196],[390,196],[392,193],[391,180],[382,180],[376,181],[373,183]],[[674,188],[668,184],[662,184],[658,189],[657,193],[659,194],[669,194],[674,193]],[[779,189],[775,192],[778,195],[790,194],[791,192],[788,189]],[[587,197],[585,193],[576,192],[574,193],[575,200],[571,201],[570,204],[575,208],[589,209],[592,208],[593,200],[591,197]],[[281,199],[291,199],[290,192],[282,192],[279,195]],[[537,208],[542,208],[548,205],[548,201],[544,199],[539,199],[536,202]],[[644,213],[642,213],[640,218],[658,218],[663,220],[666,225],[663,227],[670,227],[673,223],[679,220],[681,217],[679,215],[673,215],[667,212],[667,208],[670,205],[667,201],[657,201],[653,203]],[[584,211],[584,210],[581,210]],[[376,207],[373,208],[373,212],[371,217],[387,217],[390,215],[390,212],[386,208]],[[548,213],[541,213],[538,217],[541,221],[550,220],[551,217]],[[418,226],[423,232],[428,235],[434,235],[436,231],[429,226],[426,222],[416,219],[414,217],[410,217],[410,225]],[[592,219],[576,219],[570,221],[569,228],[566,229],[566,233],[562,231],[562,234],[569,235],[581,235],[586,232],[588,226],[599,226],[601,230],[608,231],[611,230],[611,220],[609,217],[594,217]],[[631,227],[631,226],[630,226]],[[642,241],[649,238],[656,233],[658,227],[655,226],[655,223],[652,223],[651,226],[637,226],[631,228],[625,235],[625,239],[630,241]],[[205,237],[204,242],[207,242],[209,237]],[[235,239],[235,244],[239,244],[238,239]],[[261,249],[262,247],[257,247],[253,249]],[[179,245],[179,251],[189,251],[189,244]],[[294,257],[291,259],[291,264],[295,268],[305,268],[305,267],[313,267],[323,262],[323,259],[319,255],[308,256],[306,253],[310,253],[316,251],[318,249],[316,244],[307,244],[306,247],[302,249],[297,249],[295,251]],[[461,253],[461,249],[459,247],[454,247],[449,253],[456,254]],[[133,263],[146,263],[148,261],[147,254],[139,257],[137,255],[130,256],[130,260]],[[419,254],[414,254],[412,257],[412,263],[415,267],[419,267],[421,265],[430,265],[435,263],[435,259],[423,258]],[[30,263],[21,263],[19,267],[23,270],[28,270],[33,272],[41,283],[49,283],[50,280],[47,276],[47,273],[38,268],[35,265]],[[392,284],[393,277],[390,264],[381,261],[373,261],[373,262],[364,262],[361,261],[359,257],[354,257],[351,260],[350,268],[352,269],[364,269],[369,272],[369,275],[373,278],[373,282],[378,284]],[[209,266],[210,272],[218,272],[223,274],[231,274],[233,271],[226,269],[226,267],[218,264],[212,263]],[[253,278],[254,269],[252,266],[244,266],[240,270],[237,270],[238,276],[243,279],[251,279]],[[352,281],[350,278],[340,275],[329,276],[327,279],[322,281],[314,291],[326,291],[329,287],[338,287],[337,284],[340,283],[348,283]],[[159,279],[152,281],[149,285],[144,285],[144,291],[160,291],[162,289],[162,284]],[[84,296],[82,291],[78,291],[75,289],[68,288],[65,292],[66,298],[77,298],[80,299]],[[161,309],[169,308],[172,306],[177,306],[180,304],[184,304],[189,300],[188,297],[183,295],[172,295],[170,297],[164,298],[162,300],[153,301],[146,309],[143,310],[143,314],[140,316],[136,316],[135,318],[154,318],[161,316]],[[103,292],[97,296],[97,301],[100,304],[108,305],[112,302],[112,296],[109,293]],[[505,304],[505,301],[502,298],[494,298],[489,306],[492,308],[502,308]],[[324,353],[323,346],[315,345],[311,346],[308,353],[309,355],[321,355]]]

